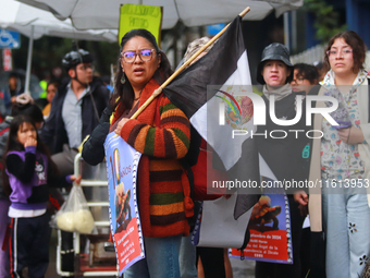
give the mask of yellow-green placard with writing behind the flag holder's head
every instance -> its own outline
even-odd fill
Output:
[[[162,7],[122,4],[120,9],[119,44],[128,31],[147,29],[153,34],[158,46],[161,47],[162,14]]]

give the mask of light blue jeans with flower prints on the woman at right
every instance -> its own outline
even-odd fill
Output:
[[[366,189],[338,189],[338,183],[330,180],[323,180],[322,184],[326,277],[360,277],[370,255],[370,208]],[[335,189],[331,192],[326,186],[332,184]]]

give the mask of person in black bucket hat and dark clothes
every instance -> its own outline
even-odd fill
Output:
[[[288,132],[289,130],[307,130],[304,117],[305,111],[303,112],[300,121],[294,125],[276,124],[270,117],[270,106],[273,106],[274,109],[272,113],[274,113],[279,120],[295,119],[297,113],[296,102],[301,105],[301,101],[296,100],[296,94],[293,93],[289,86],[292,78],[293,64],[289,61],[288,49],[278,43],[267,46],[263,49],[262,58],[257,69],[257,81],[263,85],[262,99],[266,104],[267,122],[266,125],[258,126],[256,134],[267,134],[267,136],[258,136],[258,149],[276,179],[282,182],[284,180],[300,181],[308,178],[308,167],[305,168],[308,161],[301,160],[301,153],[308,141],[305,136],[306,132],[301,132],[301,134]],[[274,100],[272,100],[272,97],[274,97]],[[282,133],[274,131],[285,132],[287,135],[283,137],[281,135]],[[270,136],[270,134],[272,135]],[[284,194],[284,191],[279,193]],[[300,277],[299,246],[304,217],[300,215],[298,203],[294,201],[292,195],[294,192],[286,191],[285,193],[287,194],[291,216],[291,226],[286,228],[286,230],[289,232],[289,229],[292,234],[293,264],[257,262],[257,278]]]

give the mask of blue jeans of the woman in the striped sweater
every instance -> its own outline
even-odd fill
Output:
[[[180,278],[182,235],[144,238],[145,258],[131,266],[124,278]]]

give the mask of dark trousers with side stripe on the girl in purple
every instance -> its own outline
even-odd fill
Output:
[[[11,218],[10,271],[21,277],[28,267],[29,278],[44,278],[49,265],[50,216]]]

